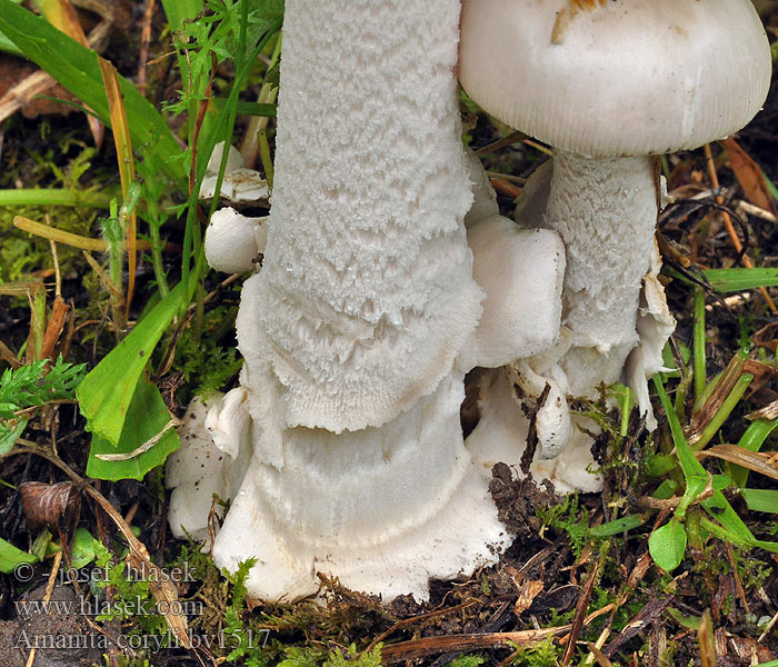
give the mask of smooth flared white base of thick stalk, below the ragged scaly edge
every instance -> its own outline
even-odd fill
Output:
[[[262,598],[315,593],[325,573],[385,600],[426,599],[430,577],[495,560],[510,536],[462,444],[462,399],[455,372],[381,427],[286,430],[283,466],[255,458],[215,559],[235,569],[258,558],[247,586]]]

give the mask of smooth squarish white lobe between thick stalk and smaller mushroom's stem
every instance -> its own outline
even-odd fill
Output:
[[[475,366],[536,355],[559,337],[565,247],[550,229],[520,229],[492,216],[468,227],[472,275],[486,292]]]

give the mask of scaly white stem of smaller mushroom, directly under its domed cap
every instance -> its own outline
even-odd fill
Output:
[[[619,379],[638,344],[637,315],[657,221],[658,179],[649,157],[592,159],[558,150],[546,226],[567,251],[561,360],[573,395]]]

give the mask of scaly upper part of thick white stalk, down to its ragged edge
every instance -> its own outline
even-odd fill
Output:
[[[462,225],[459,3],[342,0],[326,29],[319,4],[286,13],[285,34],[306,39],[285,41],[257,321],[239,341],[267,337],[287,425],[339,432],[435,390],[481,293]]]

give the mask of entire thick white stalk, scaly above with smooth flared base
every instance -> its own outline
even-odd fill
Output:
[[[458,0],[287,0],[265,259],[237,320],[233,391],[253,451],[213,545],[219,566],[256,559],[256,597],[315,593],[327,573],[385,599],[426,598],[430,577],[471,573],[510,541],[462,439],[463,375],[556,341],[563,256],[556,232],[495,218],[481,183],[467,235],[509,270],[525,252],[537,260],[509,290],[526,332],[497,321],[500,281],[481,306],[458,21]],[[221,257],[227,236],[211,238]],[[232,418],[210,427],[229,434]]]

